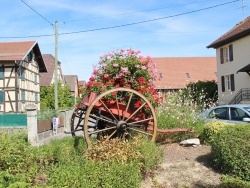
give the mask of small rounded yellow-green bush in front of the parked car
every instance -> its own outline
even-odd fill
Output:
[[[204,143],[212,143],[216,134],[218,134],[228,125],[230,124],[219,121],[211,121],[204,126],[199,137]]]

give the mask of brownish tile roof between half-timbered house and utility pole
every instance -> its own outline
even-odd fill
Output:
[[[55,71],[55,57],[51,54],[43,54],[43,59],[44,63],[47,67],[47,72],[46,73],[41,73],[40,74],[40,85],[41,86],[49,86],[51,85],[51,81],[53,78],[53,74]],[[58,61],[58,66],[60,66],[61,62]],[[60,66],[61,67],[61,66]],[[62,75],[62,70],[60,68],[61,75]]]

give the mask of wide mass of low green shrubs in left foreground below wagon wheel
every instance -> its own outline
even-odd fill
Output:
[[[147,140],[121,142],[120,146],[116,143],[128,153],[122,151],[119,159],[119,150],[109,148],[116,152],[114,158],[118,160],[102,162],[85,157],[87,145],[82,137],[67,137],[32,147],[27,135],[8,136],[0,132],[0,143],[0,187],[134,188],[140,187],[143,173],[161,161],[161,150]],[[109,149],[100,155],[107,153],[112,158]],[[125,155],[132,159],[120,162]]]

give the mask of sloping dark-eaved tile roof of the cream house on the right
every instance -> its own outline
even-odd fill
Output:
[[[250,35],[250,17],[239,22],[227,33],[208,45],[207,48],[218,48],[248,35]]]

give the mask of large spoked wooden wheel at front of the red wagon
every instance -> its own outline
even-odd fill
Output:
[[[85,113],[84,137],[88,147],[97,139],[139,137],[154,141],[156,130],[152,104],[144,95],[128,88],[111,89],[100,94]]]

